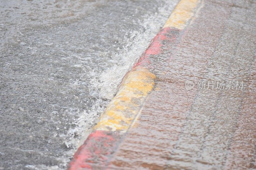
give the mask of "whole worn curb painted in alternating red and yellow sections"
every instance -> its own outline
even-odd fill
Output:
[[[154,89],[156,76],[152,72],[154,65],[150,63],[149,56],[161,54],[164,40],[170,37],[175,45],[176,34],[191,24],[201,4],[200,0],[180,0],[139,61],[124,76],[116,96],[101,114],[92,133],[76,151],[68,169],[101,169],[108,166],[127,130],[139,118],[148,93]]]

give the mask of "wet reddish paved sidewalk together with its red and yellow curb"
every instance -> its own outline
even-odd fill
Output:
[[[255,9],[181,0],[69,168],[256,168]]]

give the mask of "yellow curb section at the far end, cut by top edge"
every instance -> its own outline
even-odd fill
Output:
[[[163,28],[174,27],[184,29],[188,21],[194,16],[199,0],[180,0]]]

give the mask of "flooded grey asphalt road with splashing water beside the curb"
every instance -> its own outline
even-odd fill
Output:
[[[0,169],[63,169],[177,0],[1,1]]]

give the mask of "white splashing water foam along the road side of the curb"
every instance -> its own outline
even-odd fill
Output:
[[[150,41],[155,37],[160,28],[164,25],[165,21],[169,17],[171,11],[174,9],[178,0],[166,1],[166,4],[170,6],[161,6],[154,15],[145,15],[143,18],[147,18],[141,21],[141,29],[129,32],[134,39],[130,41],[127,38],[127,44],[123,49],[119,49],[112,55],[112,67],[106,68],[99,75],[94,71],[89,74],[94,77],[91,79],[92,96],[99,96],[99,99],[94,101],[91,110],[80,113],[80,117],[76,122],[76,128],[69,129],[68,134],[71,136],[69,140],[65,141],[67,147],[72,145],[74,150],[68,151],[67,155],[72,157],[73,152],[83,144],[90,133],[90,129],[98,121],[100,114],[105,110],[108,103],[111,101],[113,96],[116,94],[117,86],[121,82],[122,78],[128,70],[132,68],[132,65],[140,57],[143,51],[148,47]],[[128,32],[127,32],[128,34]],[[105,53],[107,54],[108,51]],[[102,54],[104,55],[104,53]],[[95,89],[95,90],[93,90]],[[99,89],[99,90],[96,90]],[[73,138],[74,134],[78,135],[77,138]],[[68,163],[68,162],[67,162]]]

